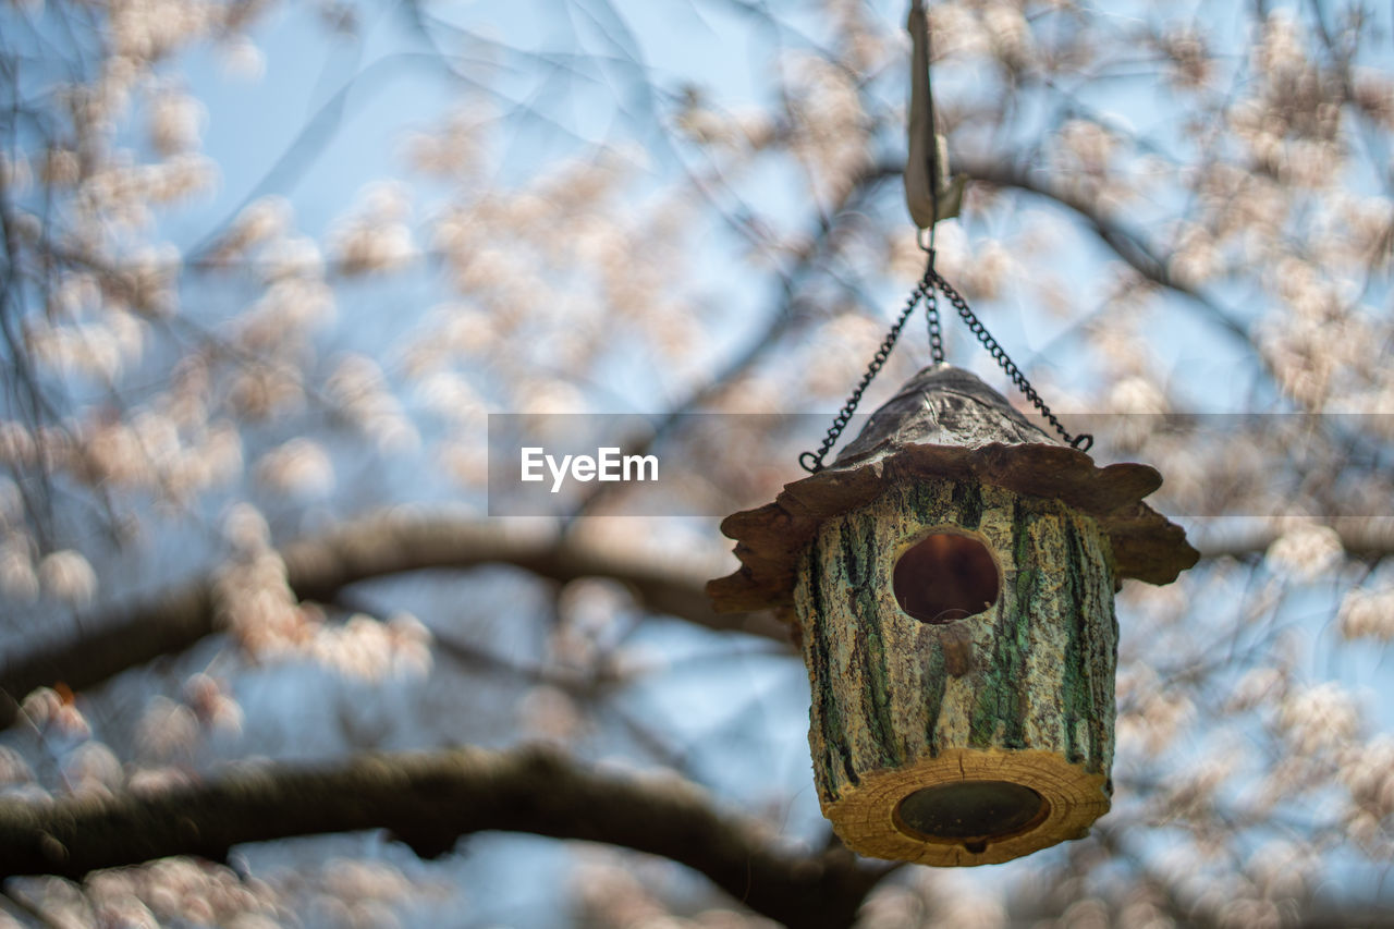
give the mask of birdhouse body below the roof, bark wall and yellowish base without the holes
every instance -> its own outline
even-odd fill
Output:
[[[1002,583],[990,610],[931,625],[899,608],[895,562],[933,531],[991,551]],[[852,848],[991,863],[1075,838],[1107,812],[1118,626],[1093,519],[974,481],[902,481],[824,522],[799,577],[814,780]],[[895,826],[906,794],[962,780],[1025,784],[1050,810],[977,851]]]

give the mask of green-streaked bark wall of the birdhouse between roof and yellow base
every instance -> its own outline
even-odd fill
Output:
[[[927,531],[983,540],[1004,576],[993,610],[937,629],[895,601],[895,558]],[[1055,750],[1093,773],[1112,756],[1117,622],[1107,543],[1058,501],[924,480],[828,520],[796,608],[813,683],[810,743],[825,802],[860,776],[952,748]],[[952,644],[952,643],[951,643]]]

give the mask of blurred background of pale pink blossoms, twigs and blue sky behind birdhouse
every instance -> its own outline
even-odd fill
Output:
[[[464,836],[346,788],[206,856],[40,848],[0,925],[1394,925],[1387,4],[928,4],[938,269],[1203,552],[1119,594],[1089,838],[853,861],[783,628],[705,605],[717,519],[489,516],[491,413],[643,414],[696,513],[803,474],[822,418],[703,424],[831,420],[923,272],[906,7],[0,6],[0,817],[551,759],[541,822]],[[867,409],[927,360],[917,317]]]

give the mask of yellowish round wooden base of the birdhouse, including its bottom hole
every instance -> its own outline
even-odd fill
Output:
[[[853,851],[921,865],[997,865],[1079,838],[1107,778],[1044,750],[949,749],[864,774],[822,813]]]

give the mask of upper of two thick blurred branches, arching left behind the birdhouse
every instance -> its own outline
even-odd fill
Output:
[[[783,624],[764,614],[718,614],[707,601],[705,577],[634,552],[601,551],[585,543],[520,534],[485,520],[376,516],[282,551],[286,579],[301,600],[328,603],[342,589],[374,577],[431,569],[513,565],[555,582],[611,577],[625,583],[652,612],[717,630],[740,630],[788,642]],[[0,670],[0,725],[14,721],[15,702],[61,681],[74,690],[220,630],[215,577],[204,577],[151,603],[107,617],[89,617],[79,636],[36,649]]]

